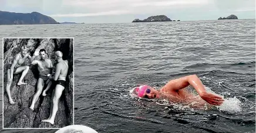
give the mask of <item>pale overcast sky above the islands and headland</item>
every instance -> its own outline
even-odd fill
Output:
[[[255,19],[255,0],[0,0],[0,11],[39,12],[57,22],[129,23],[153,15],[171,20]]]

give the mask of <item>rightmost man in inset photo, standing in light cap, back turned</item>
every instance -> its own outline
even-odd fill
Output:
[[[56,112],[58,111],[58,103],[59,98],[62,95],[62,91],[65,88],[66,76],[68,74],[68,60],[62,59],[62,52],[55,52],[55,60],[57,60],[58,64],[56,65],[56,71],[54,76],[50,75],[49,79],[56,81],[55,90],[52,93],[52,102],[50,107],[50,116],[47,120],[42,120],[42,122],[49,122],[50,124],[54,124],[54,119]]]

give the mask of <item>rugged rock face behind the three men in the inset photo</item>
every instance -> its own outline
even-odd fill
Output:
[[[63,60],[68,60],[69,70],[66,77],[65,90],[62,92],[58,104],[58,112],[55,117],[55,124],[41,122],[47,119],[50,114],[50,100],[53,85],[47,92],[47,96],[39,96],[35,103],[35,109],[29,109],[33,94],[36,92],[36,82],[38,70],[36,66],[31,66],[28,74],[24,77],[22,86],[16,86],[21,74],[14,75],[11,86],[11,96],[16,104],[9,104],[6,94],[6,64],[9,57],[21,51],[21,47],[26,45],[30,49],[31,55],[36,49],[46,49],[46,59],[54,60],[54,52],[60,50],[63,53]],[[35,59],[39,59],[36,57]],[[28,59],[25,64],[28,64]],[[73,124],[73,39],[4,39],[4,127],[5,128],[62,128]],[[46,87],[46,86],[45,86]],[[43,88],[43,90],[45,89]]]

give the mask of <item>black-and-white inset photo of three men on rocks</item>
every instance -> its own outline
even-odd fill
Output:
[[[3,128],[73,125],[73,38],[3,39]]]

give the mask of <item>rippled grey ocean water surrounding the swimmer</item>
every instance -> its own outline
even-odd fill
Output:
[[[255,132],[255,19],[0,29],[1,37],[75,37],[75,124],[98,132]],[[224,104],[196,110],[129,93],[189,74]]]

